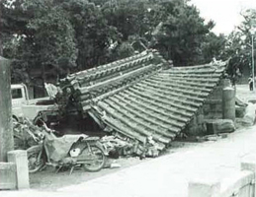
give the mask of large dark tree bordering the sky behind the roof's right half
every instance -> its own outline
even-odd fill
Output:
[[[214,24],[205,25],[197,8],[186,1],[122,0],[101,5],[108,23],[122,34],[122,41],[131,44],[139,40],[177,66],[206,61],[202,50],[206,41],[212,41],[207,34]]]

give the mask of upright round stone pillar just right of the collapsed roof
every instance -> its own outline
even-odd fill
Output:
[[[227,87],[223,89],[222,96],[222,118],[235,121],[235,95],[234,89]]]

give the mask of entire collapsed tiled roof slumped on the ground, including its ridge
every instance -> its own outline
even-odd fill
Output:
[[[219,82],[225,63],[168,67],[157,52],[144,51],[96,69],[76,73],[71,85],[82,113],[131,139],[151,136],[169,144],[190,122]]]

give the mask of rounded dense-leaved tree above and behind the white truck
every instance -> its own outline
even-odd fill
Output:
[[[34,32],[32,40],[24,39],[33,54],[33,66],[52,65],[68,73],[76,66],[77,48],[74,29],[67,14],[59,6],[43,7],[39,4],[29,5],[27,9],[40,10],[31,20],[28,29]],[[41,16],[42,15],[42,16]],[[29,42],[27,42],[29,41]],[[32,44],[31,44],[32,43]]]

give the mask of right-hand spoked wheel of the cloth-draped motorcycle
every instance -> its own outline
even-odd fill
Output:
[[[106,156],[104,155],[103,150],[97,145],[90,145],[90,149],[89,147],[86,147],[79,158],[83,158],[87,161],[86,164],[83,164],[83,168],[86,171],[99,171],[106,163]]]

